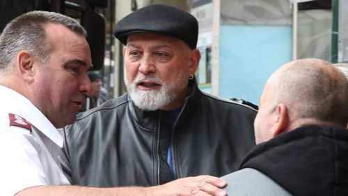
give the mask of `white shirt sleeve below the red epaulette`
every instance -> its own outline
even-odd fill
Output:
[[[29,130],[10,127],[0,132],[0,195],[47,184],[40,145]]]

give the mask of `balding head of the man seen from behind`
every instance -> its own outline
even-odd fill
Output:
[[[331,63],[319,59],[287,63],[264,87],[255,120],[257,142],[308,124],[345,127],[347,100],[345,75]]]

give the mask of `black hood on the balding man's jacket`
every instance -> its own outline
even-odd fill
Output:
[[[303,126],[255,146],[242,168],[266,174],[293,195],[348,194],[348,130]]]

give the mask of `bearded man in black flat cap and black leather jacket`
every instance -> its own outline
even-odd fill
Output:
[[[153,4],[120,20],[115,36],[125,45],[128,93],[63,130],[71,183],[153,186],[235,171],[255,144],[256,111],[198,89],[196,18]]]

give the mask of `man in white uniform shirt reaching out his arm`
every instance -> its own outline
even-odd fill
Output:
[[[86,31],[58,13],[34,11],[0,36],[0,195],[226,195],[213,176],[150,188],[70,186],[58,165],[56,128],[76,119],[90,91]],[[219,187],[219,188],[218,188]]]

